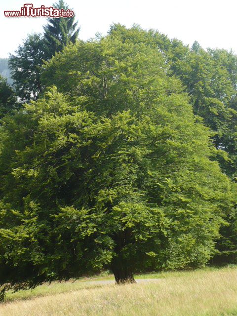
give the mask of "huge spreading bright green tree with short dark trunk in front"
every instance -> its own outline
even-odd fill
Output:
[[[57,88],[0,130],[2,294],[102,268],[123,283],[204,265],[232,188],[162,53],[112,33],[45,67]]]

